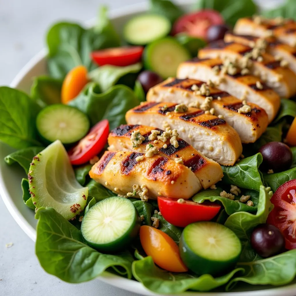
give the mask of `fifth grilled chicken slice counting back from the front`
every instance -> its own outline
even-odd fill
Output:
[[[213,71],[215,66],[221,67],[223,62],[221,59],[198,59],[194,58],[179,65],[177,78],[192,78],[203,81],[219,81],[218,88],[222,91],[227,91],[232,96],[240,100],[246,99],[247,102],[257,104],[263,108],[267,115],[268,121],[271,122],[281,105],[279,95],[270,87],[268,87],[260,78],[253,75],[222,75]],[[256,86],[257,81],[263,86],[259,89]]]

